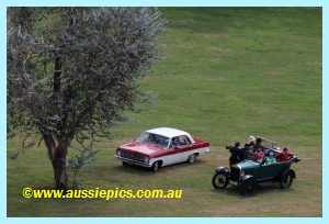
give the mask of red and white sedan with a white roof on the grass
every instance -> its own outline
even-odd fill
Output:
[[[144,132],[137,141],[116,149],[123,165],[135,165],[157,171],[160,167],[188,161],[209,152],[209,143],[193,138],[189,133],[171,127]]]

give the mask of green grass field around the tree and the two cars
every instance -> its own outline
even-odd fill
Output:
[[[24,199],[22,190],[53,188],[53,169],[41,145],[7,160],[8,216],[105,217],[321,217],[322,216],[322,12],[320,8],[160,8],[169,31],[164,60],[140,80],[156,104],[112,130],[113,141],[79,173],[83,189],[182,190],[181,199]],[[123,167],[118,145],[141,132],[171,126],[211,143],[192,165],[156,173]],[[288,190],[260,189],[253,197],[215,190],[226,144],[249,135],[290,146],[303,160]],[[8,142],[10,154],[18,139]],[[73,155],[70,152],[68,157]]]

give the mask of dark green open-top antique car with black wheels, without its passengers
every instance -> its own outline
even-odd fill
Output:
[[[230,160],[230,167],[217,167],[213,176],[212,183],[215,189],[225,189],[228,184],[239,187],[242,195],[252,195],[257,188],[280,183],[282,189],[288,189],[296,173],[291,169],[291,165],[298,163],[296,155],[287,161],[265,165],[264,159],[257,161],[250,156],[249,148],[226,146],[231,154],[240,156],[241,161],[236,164]],[[268,148],[266,154],[274,156],[280,153],[279,147]]]

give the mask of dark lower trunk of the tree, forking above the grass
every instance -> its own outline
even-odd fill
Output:
[[[52,161],[55,178],[55,188],[58,190],[68,189],[68,175],[66,168],[67,144],[58,141],[55,144],[53,135],[44,135],[45,144],[48,148],[48,157]]]

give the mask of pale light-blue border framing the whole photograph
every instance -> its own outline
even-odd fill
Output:
[[[138,1],[138,0],[56,0],[56,1],[41,1],[41,0],[1,0],[0,2],[0,22],[1,22],[1,54],[2,54],[2,60],[3,58],[7,58],[5,56],[5,27],[7,27],[7,7],[322,7],[322,16],[324,16],[324,33],[322,33],[322,40],[329,40],[328,35],[328,16],[329,16],[329,10],[328,10],[328,0],[213,0],[213,1],[195,1],[195,0],[147,0],[147,1]],[[328,74],[328,44],[326,41],[322,41],[322,155],[324,158],[328,158],[328,142],[325,142],[326,134],[328,134],[327,127],[328,127],[328,119],[326,119],[327,114],[327,98],[328,98],[328,90],[326,90],[326,86],[328,86],[328,78],[325,76],[325,74]],[[2,61],[0,65],[1,71],[2,71],[2,81],[0,82],[0,102],[1,105],[7,104],[5,101],[5,61]],[[327,71],[327,72],[326,72]],[[1,166],[1,189],[7,189],[7,156],[5,156],[5,149],[7,148],[7,139],[5,139],[5,110],[4,107],[2,107],[2,110],[0,110],[1,117],[0,120],[0,126],[1,126],[1,146],[2,155],[0,166]],[[326,173],[326,172],[325,172]],[[241,223],[241,222],[251,222],[251,223],[288,223],[288,222],[296,222],[298,224],[303,223],[328,223],[328,176],[324,176],[324,182],[322,182],[322,217],[309,217],[309,219],[230,219],[230,217],[212,217],[212,219],[98,219],[98,217],[91,217],[91,219],[79,219],[79,220],[71,220],[71,219],[7,219],[7,191],[1,190],[0,191],[0,223],[71,223],[71,222],[82,222],[82,223],[90,223],[90,222],[98,222],[98,223],[171,223],[171,222],[189,222],[189,223],[200,223],[200,222],[207,222],[207,224],[214,223],[218,224],[220,223]],[[218,199],[220,200],[220,199]],[[304,205],[300,205],[304,206]],[[109,208],[110,209],[110,208]],[[183,209],[183,208],[182,208]],[[36,211],[37,212],[37,211]]]

